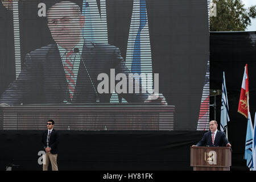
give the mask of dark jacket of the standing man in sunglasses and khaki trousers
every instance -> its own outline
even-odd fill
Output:
[[[42,134],[41,142],[43,144],[43,149],[47,147],[47,135],[48,135],[48,130],[44,131]],[[52,129],[52,132],[49,138],[49,147],[51,148],[51,154],[57,154],[59,152],[58,150],[59,142],[60,142],[59,133],[55,129]]]

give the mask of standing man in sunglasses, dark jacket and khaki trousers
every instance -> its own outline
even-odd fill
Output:
[[[42,144],[43,148],[46,151],[46,160],[43,164],[43,171],[48,171],[49,162],[52,165],[52,171],[58,171],[57,166],[57,153],[59,145],[59,133],[53,129],[54,121],[49,119],[47,121],[47,129],[42,134]]]

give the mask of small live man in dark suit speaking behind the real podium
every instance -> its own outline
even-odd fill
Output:
[[[196,146],[226,146],[231,147],[231,144],[229,143],[228,139],[226,138],[226,135],[223,131],[217,130],[218,124],[217,121],[213,120],[209,123],[210,131],[204,134],[203,138],[192,147]]]

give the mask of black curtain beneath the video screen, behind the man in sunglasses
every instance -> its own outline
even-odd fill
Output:
[[[43,131],[0,131],[0,170],[42,170],[38,152]],[[59,170],[191,171],[190,146],[204,132],[59,131]],[[235,143],[233,143],[236,146]],[[4,146],[4,148],[3,148]],[[235,148],[235,147],[234,147]],[[51,168],[49,168],[51,169]],[[233,149],[232,170],[247,170],[242,154]]]

